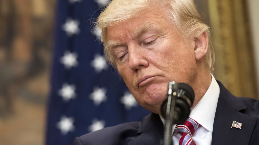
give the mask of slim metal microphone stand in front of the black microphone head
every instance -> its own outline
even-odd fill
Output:
[[[164,145],[173,145],[172,143],[172,125],[174,110],[176,104],[178,84],[176,82],[169,82],[168,85],[168,100],[166,106]]]

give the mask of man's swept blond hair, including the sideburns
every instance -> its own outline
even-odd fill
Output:
[[[101,29],[101,41],[104,42],[104,54],[108,62],[116,68],[115,60],[110,51],[106,49],[107,27],[114,26],[127,19],[143,15],[143,9],[151,6],[169,6],[169,19],[182,33],[185,39],[197,39],[206,32],[209,39],[206,63],[210,71],[213,71],[215,62],[214,49],[211,42],[211,32],[208,25],[201,19],[193,0],[113,0],[107,8],[101,12],[96,27]]]

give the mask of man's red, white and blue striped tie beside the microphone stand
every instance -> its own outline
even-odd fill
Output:
[[[174,132],[182,134],[179,145],[196,145],[193,142],[192,135],[199,126],[200,124],[191,118],[188,118],[183,124],[176,125]]]

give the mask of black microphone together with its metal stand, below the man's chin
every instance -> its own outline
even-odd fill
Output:
[[[182,123],[188,118],[193,100],[194,91],[190,85],[169,82],[168,98],[161,106],[161,114],[165,118],[163,145],[172,145],[172,125]]]

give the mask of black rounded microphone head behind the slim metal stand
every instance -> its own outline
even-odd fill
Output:
[[[190,108],[193,105],[193,100],[194,100],[193,88],[186,83],[169,82],[168,89],[169,91],[171,89],[176,93],[173,122],[174,124],[183,123],[188,118],[190,114]],[[168,95],[172,95],[169,93]],[[168,99],[166,99],[161,106],[161,114],[164,118],[166,118],[167,103],[168,103]]]

